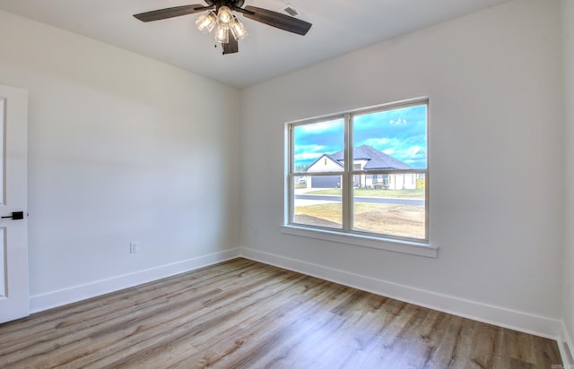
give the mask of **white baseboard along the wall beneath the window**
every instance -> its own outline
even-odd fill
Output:
[[[241,256],[257,262],[265,262],[280,268],[298,271],[309,276],[326,279],[348,287],[358,288],[377,295],[395,298],[406,303],[421,305],[444,313],[473,319],[479,322],[519,330],[537,336],[559,339],[561,322],[552,318],[486,305],[456,296],[422,290],[415,287],[399,285],[382,279],[335,270],[325,266],[302,262],[272,253],[264,253],[249,248],[240,249]]]

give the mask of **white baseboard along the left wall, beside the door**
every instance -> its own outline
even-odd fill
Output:
[[[173,262],[148,270],[140,270],[130,274],[101,279],[91,283],[51,291],[41,295],[30,296],[30,313],[38,313],[57,306],[72,304],[94,296],[108,294],[127,287],[134,287],[152,280],[170,277],[196,270],[208,265],[239,257],[239,248],[225,250],[220,253],[210,253],[182,262]]]

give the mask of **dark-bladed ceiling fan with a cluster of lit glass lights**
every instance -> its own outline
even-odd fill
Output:
[[[215,39],[222,44],[223,55],[237,53],[239,39],[244,39],[248,35],[243,23],[232,12],[242,13],[248,19],[302,36],[307,34],[312,25],[307,21],[256,6],[242,7],[245,0],[204,0],[204,2],[206,6],[201,4],[174,6],[134,16],[140,21],[160,21],[204,12],[196,19],[197,28],[207,32],[215,29]]]

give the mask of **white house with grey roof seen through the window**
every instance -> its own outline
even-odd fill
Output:
[[[369,145],[361,145],[352,152],[353,170],[410,170],[413,167],[401,160]],[[342,172],[344,169],[344,150],[333,154],[323,154],[307,169],[307,173]],[[337,188],[341,186],[341,176],[309,176],[308,188]],[[393,173],[393,174],[361,174],[353,176],[353,186],[358,188],[379,188],[389,190],[404,190],[424,188],[424,174]]]

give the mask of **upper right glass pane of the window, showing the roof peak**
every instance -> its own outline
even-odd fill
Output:
[[[427,106],[353,116],[352,141],[353,170],[426,169]]]

